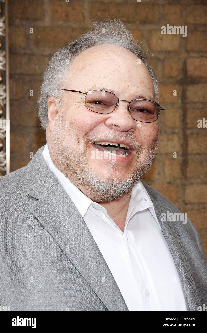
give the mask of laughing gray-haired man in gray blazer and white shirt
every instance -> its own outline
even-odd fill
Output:
[[[197,311],[207,266],[187,219],[140,179],[161,107],[122,22],[53,55],[39,97],[47,145],[1,178],[1,306],[11,311]],[[3,213],[2,213],[3,212]]]

